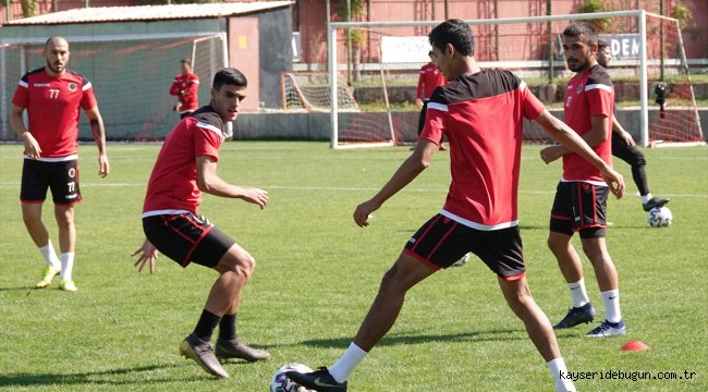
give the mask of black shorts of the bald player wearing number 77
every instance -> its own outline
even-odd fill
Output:
[[[78,186],[78,160],[39,161],[24,159],[20,200],[26,204],[40,204],[51,191],[56,205],[72,206],[81,203]]]

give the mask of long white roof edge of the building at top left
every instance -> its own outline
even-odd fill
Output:
[[[21,26],[225,17],[290,7],[293,1],[254,1],[205,4],[83,8],[10,21],[5,23],[5,25]]]

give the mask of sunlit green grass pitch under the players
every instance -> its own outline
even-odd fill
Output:
[[[524,147],[520,219],[528,281],[558,321],[567,289],[546,247],[561,164]],[[82,145],[84,203],[76,208],[76,293],[35,290],[40,256],[22,223],[22,146],[0,146],[0,390],[267,391],[282,365],[331,365],[349,345],[383,272],[408,235],[443,204],[449,152],[357,228],[352,213],[410,154],[392,147],[333,151],[326,143],[227,143],[219,174],[270,194],[266,210],[205,196],[200,211],[258,260],[239,314],[240,336],[268,350],[268,362],[230,362],[213,380],[178,354],[216,273],[158,259],[138,274],[131,253],[143,240],[141,210],[158,145],[109,145],[111,174],[96,174],[96,148]],[[656,195],[671,197],[673,225],[652,229],[634,194],[609,201],[608,246],[620,273],[627,335],[583,338],[593,326],[558,333],[572,371],[659,373],[682,379],[581,380],[579,391],[708,390],[708,149],[646,149]],[[51,203],[45,222],[57,245]],[[579,249],[577,238],[574,244]],[[583,257],[588,294],[602,301]],[[625,353],[639,340],[646,352]],[[684,371],[694,372],[687,380]],[[599,378],[599,375],[596,376]],[[350,379],[351,391],[551,391],[547,366],[505,305],[495,275],[476,258],[437,273],[407,295],[391,332]]]

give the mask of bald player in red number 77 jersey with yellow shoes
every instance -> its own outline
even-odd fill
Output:
[[[98,175],[110,171],[106,152],[106,131],[90,82],[66,69],[69,42],[62,37],[47,39],[45,66],[20,79],[12,98],[10,126],[24,143],[20,200],[22,218],[47,267],[37,287],[46,287],[59,274],[59,287],[76,291],[72,278],[76,229],[74,205],[82,200],[78,187],[78,109],[84,109],[98,146]],[[27,110],[28,126],[22,113]],[[41,220],[41,207],[51,189],[59,228],[60,258]]]

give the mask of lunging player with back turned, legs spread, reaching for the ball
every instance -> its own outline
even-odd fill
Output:
[[[340,359],[329,369],[286,376],[317,391],[346,391],[351,372],[393,326],[406,292],[472,252],[497,274],[509,306],[547,362],[557,390],[575,391],[572,380],[563,377],[566,368],[551,323],[526,283],[516,203],[523,120],[538,122],[596,166],[607,182],[615,184],[618,197],[624,191],[622,176],[552,117],[522,79],[504,70],[481,70],[474,58],[474,36],[463,21],[445,21],[428,37],[432,61],[450,82],[432,94],[411,157],[371,199],[356,207],[354,221],[367,226],[373,211],[430,164],[443,134],[450,143],[452,174],[444,206],[408,238]]]

